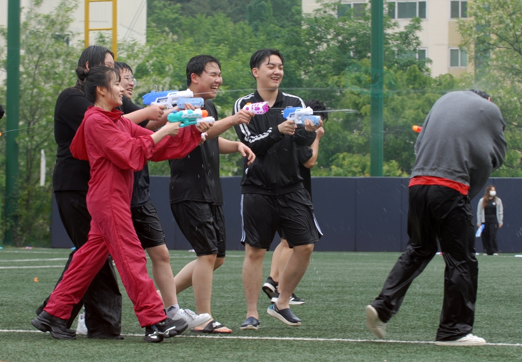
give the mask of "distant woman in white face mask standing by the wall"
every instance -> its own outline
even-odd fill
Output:
[[[502,227],[503,219],[502,200],[496,196],[495,186],[489,185],[477,207],[477,226],[480,227],[484,224],[484,230],[482,230],[484,255],[499,255],[499,248],[496,244],[496,230]]]

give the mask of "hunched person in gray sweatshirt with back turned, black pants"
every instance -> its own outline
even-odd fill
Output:
[[[471,334],[477,299],[478,263],[470,200],[506,153],[505,123],[482,91],[450,92],[438,99],[415,144],[409,184],[406,251],[389,273],[381,294],[366,307],[366,325],[384,338],[411,282],[437,252],[446,263],[444,301],[436,345],[484,345]]]

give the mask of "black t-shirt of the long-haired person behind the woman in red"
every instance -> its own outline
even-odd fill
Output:
[[[87,108],[92,106],[78,88],[63,90],[56,99],[54,108],[54,139],[58,145],[56,151],[56,165],[53,171],[53,190],[81,190],[89,189],[90,178],[89,161],[78,160],[70,153],[70,143],[84,120]]]

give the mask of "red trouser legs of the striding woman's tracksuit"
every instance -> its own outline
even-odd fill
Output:
[[[118,273],[134,312],[143,328],[167,318],[163,303],[147,272],[145,252],[134,230],[130,207],[128,212],[91,213],[91,230],[87,243],[73,256],[67,272],[51,294],[45,311],[54,317],[69,319],[73,306],[79,302],[92,279],[100,271],[109,254],[116,263]]]

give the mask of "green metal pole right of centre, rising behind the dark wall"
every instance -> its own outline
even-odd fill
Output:
[[[371,0],[371,4],[370,176],[383,176],[384,1]]]

